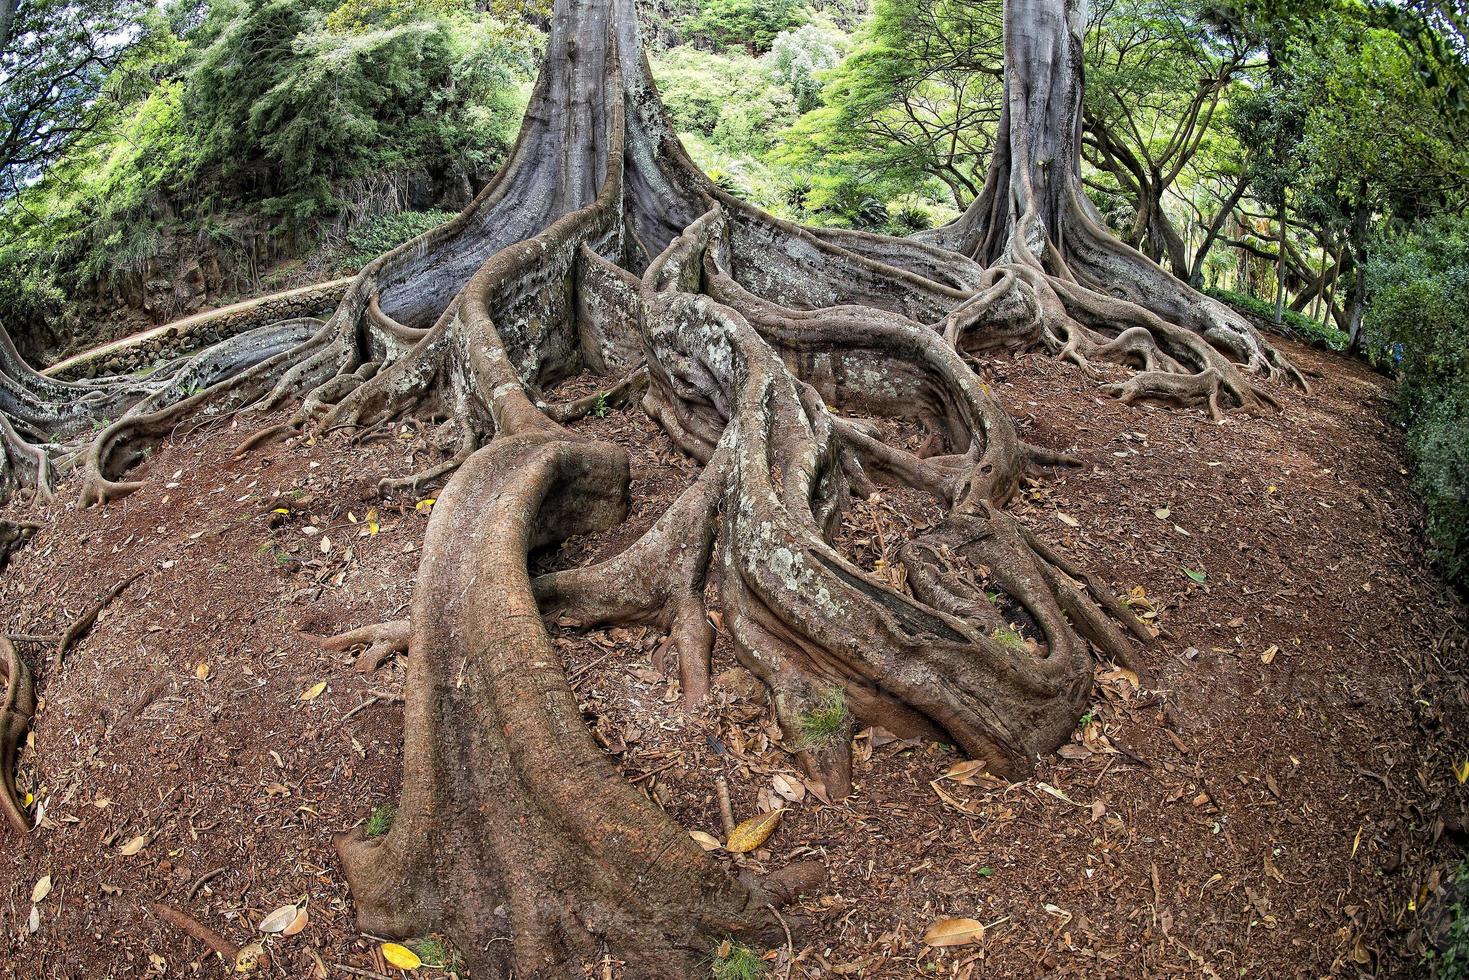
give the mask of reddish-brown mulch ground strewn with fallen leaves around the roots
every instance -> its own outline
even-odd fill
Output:
[[[657,635],[551,624],[592,730],[670,815],[721,837],[723,776],[736,818],[784,807],[745,864],[826,862],[773,976],[1423,970],[1469,842],[1465,608],[1418,544],[1388,382],[1282,345],[1316,392],[1222,423],[1122,406],[1046,357],[995,364],[1025,438],[1084,461],[1014,511],[1161,632],[1140,676],[1099,667],[1074,742],[1025,782],[867,730],[856,793],[831,805],[773,745],[727,638],[690,714]],[[635,513],[538,567],[616,551],[695,475],[638,408],[577,428],[627,447]],[[44,698],[21,763],[40,826],[0,826],[0,977],[220,976],[150,902],[239,945],[295,904],[308,923],[267,940],[267,976],[394,973],[354,926],[332,836],[395,801],[404,669],[355,673],[311,638],[407,614],[432,504],[373,488],[439,448],[400,426],[235,460],[242,435],[179,430],[110,507],[63,494],[0,574],[0,627],[53,635],[142,573],[59,673],[48,646],[22,646]],[[893,576],[895,539],[934,517],[883,494],[837,544]],[[925,946],[945,917],[980,920],[983,942]]]

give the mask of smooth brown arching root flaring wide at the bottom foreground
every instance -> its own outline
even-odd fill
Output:
[[[727,933],[774,924],[773,896],[598,748],[541,623],[526,554],[626,510],[621,450],[544,435],[497,439],[438,498],[398,814],[385,837],[338,845],[369,932],[442,930],[476,976],[573,976],[604,948],[629,976],[693,976]]]

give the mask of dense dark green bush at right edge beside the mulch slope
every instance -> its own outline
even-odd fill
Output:
[[[1369,354],[1397,370],[1413,482],[1450,582],[1469,589],[1469,219],[1390,241],[1368,266]]]

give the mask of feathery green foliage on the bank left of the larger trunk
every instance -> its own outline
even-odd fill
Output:
[[[150,82],[0,209],[7,322],[60,336],[82,316],[65,297],[142,295],[192,256],[250,289],[273,257],[338,229],[461,206],[507,153],[535,63],[523,25],[452,0],[170,15],[128,54]]]

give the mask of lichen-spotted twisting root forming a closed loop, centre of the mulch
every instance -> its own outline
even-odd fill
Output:
[[[1087,624],[1106,616],[1068,591],[1062,576],[1052,577],[1014,519],[995,510],[1015,491],[1024,466],[1009,419],[937,334],[896,314],[867,311],[864,323],[842,307],[780,311],[726,281],[721,298],[759,316],[757,331],[734,309],[689,292],[701,270],[712,278],[707,259],[720,250],[723,231],[714,209],[643,278],[651,394],[686,433],[721,428],[720,453],[733,453],[721,532],[724,616],[740,661],[771,689],[789,748],[831,795],[845,795],[849,739],[805,735],[812,716],[842,704],[853,721],[949,738],[996,771],[1027,771],[1066,738],[1090,691],[1087,638],[1068,616],[1084,613]],[[824,360],[796,360],[821,366],[824,395],[887,408],[906,403],[909,411],[930,406],[958,453],[912,457],[883,473],[898,482],[914,478],[955,504],[943,552],[990,569],[995,588],[1036,633],[1034,649],[997,638],[1009,626],[996,611],[975,614],[972,597],[959,602],[952,588],[942,588],[945,576],[924,550],[905,554],[915,582],[906,595],[831,547],[848,500],[843,458],[871,438],[839,425],[771,344],[787,357],[821,351]],[[918,469],[931,463],[946,464],[948,480]],[[927,595],[918,582],[933,586]],[[1116,627],[1093,632],[1106,654],[1127,655],[1130,642]]]

